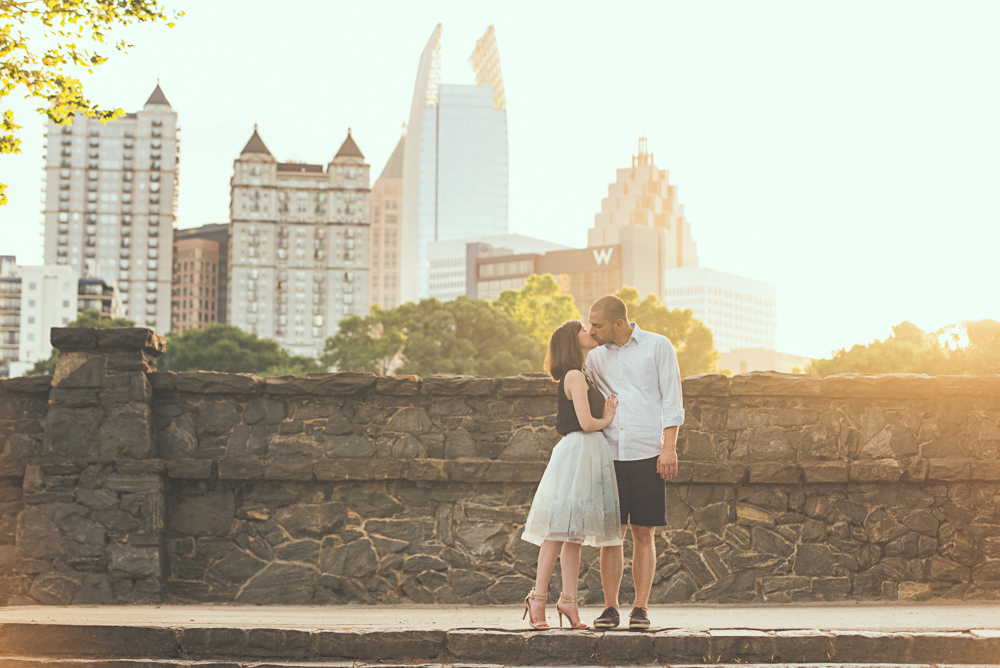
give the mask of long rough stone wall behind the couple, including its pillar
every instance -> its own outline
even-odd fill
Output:
[[[0,604],[530,588],[519,534],[559,438],[546,377],[178,374],[151,371],[147,330],[53,342],[54,378],[0,382]],[[1000,598],[1000,376],[709,375],[684,394],[653,603]]]

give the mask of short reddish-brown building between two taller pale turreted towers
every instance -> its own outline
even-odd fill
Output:
[[[211,239],[174,241],[174,292],[171,329],[183,333],[217,322],[218,303],[226,293],[219,286],[219,242]]]

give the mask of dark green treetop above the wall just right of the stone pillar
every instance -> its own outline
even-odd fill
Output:
[[[167,334],[167,351],[157,367],[164,371],[226,371],[259,376],[323,371],[314,359],[292,356],[274,339],[261,339],[239,327],[213,323],[183,334]]]

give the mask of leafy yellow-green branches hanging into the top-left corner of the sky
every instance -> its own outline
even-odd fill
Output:
[[[174,19],[183,16],[174,12]],[[70,67],[94,68],[107,62],[96,49],[113,29],[133,23],[168,21],[155,0],[0,0],[0,100],[23,85],[27,95],[46,101],[38,111],[49,120],[65,124],[75,115],[108,122],[125,114],[121,109],[101,109],[84,95],[79,79],[67,74]],[[48,46],[33,51],[24,32],[34,33]],[[132,45],[120,40],[115,49],[127,52]],[[3,112],[0,153],[20,153],[14,112]],[[0,206],[7,203],[6,186],[0,183]]]

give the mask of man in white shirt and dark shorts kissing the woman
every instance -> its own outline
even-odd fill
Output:
[[[632,527],[635,601],[630,629],[649,628],[649,591],[656,569],[656,527],[664,526],[664,480],[677,475],[677,430],[684,423],[677,354],[667,337],[628,321],[618,297],[590,309],[590,335],[600,347],[587,355],[587,371],[605,396],[618,397],[615,419],[604,429],[618,479],[622,538]],[[618,626],[618,591],[624,571],[621,545],[601,548],[605,610],[594,628]]]

